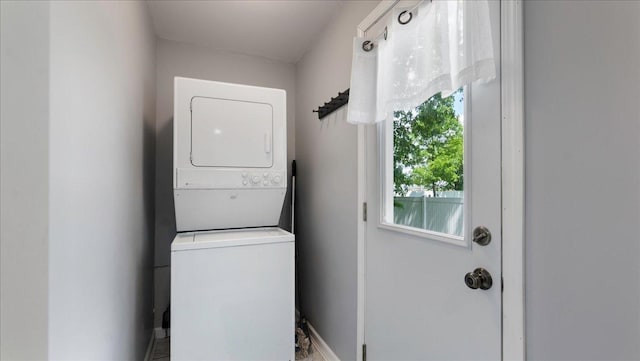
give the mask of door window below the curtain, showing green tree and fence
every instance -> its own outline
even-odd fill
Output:
[[[382,125],[383,224],[463,238],[464,99],[436,94]]]

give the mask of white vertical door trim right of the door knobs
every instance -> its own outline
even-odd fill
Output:
[[[500,6],[502,359],[524,360],[524,52],[522,0]]]

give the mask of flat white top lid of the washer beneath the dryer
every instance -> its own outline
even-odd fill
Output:
[[[293,234],[276,227],[180,233],[171,251],[293,242]]]

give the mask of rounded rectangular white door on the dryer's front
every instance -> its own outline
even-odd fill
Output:
[[[191,163],[196,167],[273,166],[271,104],[191,99]]]

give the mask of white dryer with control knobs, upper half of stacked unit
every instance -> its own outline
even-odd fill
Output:
[[[178,232],[273,226],[287,190],[286,93],[175,78]]]

